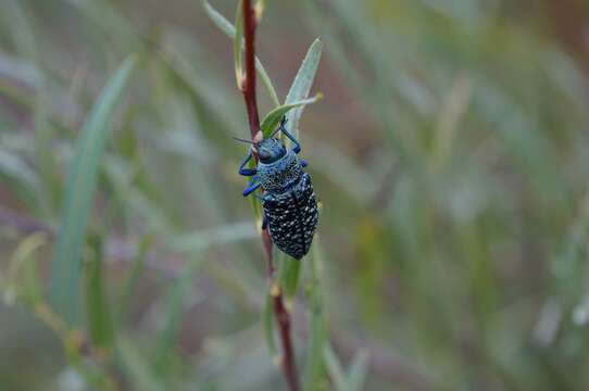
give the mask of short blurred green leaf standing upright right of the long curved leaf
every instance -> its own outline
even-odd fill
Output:
[[[95,346],[110,349],[113,341],[113,325],[108,294],[104,290],[103,254],[100,236],[88,239],[85,266],[85,290],[87,328]]]

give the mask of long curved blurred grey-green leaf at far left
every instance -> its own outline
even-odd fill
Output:
[[[50,300],[73,326],[79,321],[80,260],[100,159],[110,135],[113,111],[125,90],[136,59],[127,58],[98,98],[80,131],[65,186],[63,217],[51,265]]]

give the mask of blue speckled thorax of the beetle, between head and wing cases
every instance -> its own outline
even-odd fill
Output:
[[[258,177],[262,188],[274,193],[286,191],[301,177],[302,172],[299,159],[291,150],[276,162],[258,163]]]

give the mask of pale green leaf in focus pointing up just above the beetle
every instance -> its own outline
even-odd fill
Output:
[[[294,77],[294,81],[292,81],[292,86],[290,86],[290,90],[286,96],[285,105],[309,97],[309,91],[311,91],[313,79],[315,78],[315,74],[319,66],[322,50],[322,41],[315,39],[304,56],[301,67]],[[297,138],[299,138],[299,119],[301,118],[303,109],[304,106],[300,106],[287,114],[287,130]]]

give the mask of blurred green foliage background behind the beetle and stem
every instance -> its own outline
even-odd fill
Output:
[[[266,1],[280,99],[324,43],[300,127],[323,203],[292,313],[309,389],[589,389],[588,27],[575,0]],[[67,164],[131,53],[68,298],[84,314],[60,332]],[[0,390],[285,389],[230,139],[248,134],[200,1],[0,0]]]

